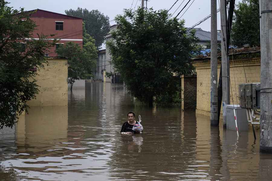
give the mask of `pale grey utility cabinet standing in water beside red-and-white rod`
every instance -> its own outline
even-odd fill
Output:
[[[229,104],[226,105],[226,118],[227,118],[227,129],[236,131],[236,124],[234,119],[234,111],[237,119],[238,131],[248,131],[248,120],[247,120],[247,110],[241,108],[240,105]]]

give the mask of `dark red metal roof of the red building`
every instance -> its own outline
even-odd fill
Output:
[[[57,18],[57,19],[81,19],[81,20],[83,19],[80,17],[68,16],[66,14],[45,11],[42,9],[34,9],[31,11],[36,11],[36,12],[30,14],[30,17],[45,17],[45,18]],[[27,11],[27,12],[30,12],[30,11]]]

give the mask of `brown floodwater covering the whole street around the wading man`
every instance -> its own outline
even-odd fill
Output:
[[[259,154],[259,130],[210,127],[180,107],[147,108],[122,85],[86,83],[68,106],[32,107],[0,131],[0,180],[271,180],[272,156]],[[120,135],[127,113],[142,135]]]

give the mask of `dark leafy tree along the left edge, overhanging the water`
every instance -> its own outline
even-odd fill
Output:
[[[36,25],[29,14],[0,0],[0,129],[12,127],[18,115],[27,111],[26,102],[39,92],[37,71],[32,70],[44,67],[45,52],[56,43],[44,35],[39,40],[32,38]]]

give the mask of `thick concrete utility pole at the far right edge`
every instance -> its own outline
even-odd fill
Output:
[[[261,7],[261,113],[260,152],[272,154],[272,1]]]

